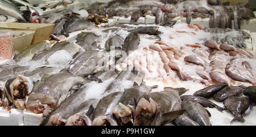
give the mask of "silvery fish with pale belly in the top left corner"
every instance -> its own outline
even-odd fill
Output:
[[[23,13],[16,9],[15,6],[7,3],[6,1],[0,1],[0,14],[12,16],[15,19],[20,20],[21,22],[27,22],[23,17]]]

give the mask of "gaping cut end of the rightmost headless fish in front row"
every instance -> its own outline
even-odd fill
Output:
[[[156,110],[158,109],[158,103],[156,103],[152,98],[148,100],[145,98],[141,98],[138,102],[136,108],[136,115],[134,118],[134,125],[140,125],[142,121],[140,121],[141,117],[146,119],[154,119],[156,115]]]

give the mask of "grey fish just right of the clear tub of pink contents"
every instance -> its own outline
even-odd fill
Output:
[[[44,51],[45,49],[51,48],[51,43],[49,41],[41,41],[36,44],[32,44],[22,51],[19,52],[18,55],[14,56],[14,60],[16,62],[20,61],[30,61],[32,60],[32,57],[36,54],[39,53],[40,51]]]

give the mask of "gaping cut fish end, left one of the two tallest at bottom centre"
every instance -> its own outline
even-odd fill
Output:
[[[134,123],[133,116],[135,114],[135,110],[133,109],[133,106],[125,106],[119,102],[118,105],[114,107],[113,114],[116,118],[120,118],[124,124],[129,122]]]

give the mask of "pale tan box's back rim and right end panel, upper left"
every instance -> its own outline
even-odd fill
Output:
[[[0,28],[13,31],[35,31],[34,38],[31,44],[38,43],[43,40],[48,40],[52,34],[54,24],[46,23],[0,23]]]

